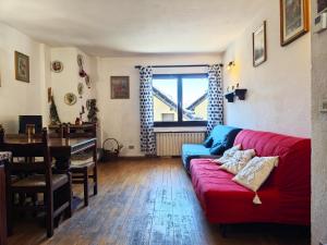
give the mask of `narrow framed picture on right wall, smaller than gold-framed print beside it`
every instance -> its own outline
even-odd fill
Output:
[[[253,66],[258,66],[267,60],[266,21],[252,34]]]

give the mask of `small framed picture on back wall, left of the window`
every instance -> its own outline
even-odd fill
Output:
[[[110,77],[111,99],[130,98],[130,76]]]

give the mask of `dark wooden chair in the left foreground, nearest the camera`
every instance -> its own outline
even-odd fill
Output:
[[[12,232],[12,212],[14,210],[45,211],[47,236],[51,237],[55,219],[63,211],[68,217],[72,216],[72,180],[70,173],[52,173],[47,130],[43,130],[41,138],[34,139],[31,143],[26,143],[26,140],[24,143],[20,140],[7,143],[4,132],[0,132],[0,149],[11,151],[13,158],[43,157],[44,159],[44,161],[11,162],[5,166],[9,233]],[[27,175],[12,183],[10,177],[12,172],[24,172]],[[33,201],[32,206],[16,205],[12,199],[13,194],[32,196],[43,194],[44,203]]]

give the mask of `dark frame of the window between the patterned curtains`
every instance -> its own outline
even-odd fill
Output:
[[[154,122],[155,127],[178,127],[178,126],[206,126],[208,121],[183,121],[183,78],[208,78],[207,73],[181,73],[181,74],[154,74],[153,79],[177,79],[178,87],[178,121],[177,122]],[[154,108],[155,109],[155,108]]]

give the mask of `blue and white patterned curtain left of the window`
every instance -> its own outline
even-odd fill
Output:
[[[146,156],[156,155],[154,133],[153,69],[140,69],[140,115],[141,115],[141,151]]]

